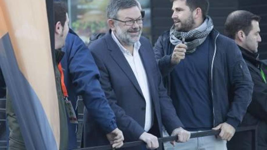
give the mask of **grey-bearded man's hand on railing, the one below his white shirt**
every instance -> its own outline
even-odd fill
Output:
[[[147,144],[148,149],[156,149],[159,147],[158,139],[156,136],[144,132],[140,137],[140,140],[144,141]]]

